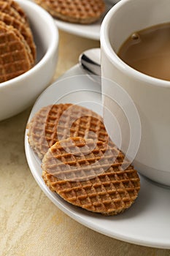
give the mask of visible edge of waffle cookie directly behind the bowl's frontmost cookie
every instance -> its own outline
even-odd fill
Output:
[[[34,61],[36,59],[36,46],[34,44],[31,29],[22,22],[20,22],[20,20],[17,20],[16,18],[8,15],[5,12],[0,12],[0,20],[20,31],[20,34],[23,35],[24,39],[29,45],[29,48],[31,49],[31,54],[33,56],[32,64],[34,64]]]

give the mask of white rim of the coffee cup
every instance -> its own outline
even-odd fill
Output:
[[[125,64],[125,62],[117,56],[115,50],[112,49],[112,45],[109,42],[109,22],[112,20],[112,16],[115,15],[115,12],[117,12],[117,10],[119,10],[126,2],[127,0],[119,1],[117,4],[115,4],[115,6],[112,7],[111,10],[109,10],[109,12],[107,12],[107,15],[104,17],[104,20],[101,23],[100,31],[101,47],[107,54],[107,58],[109,59],[109,61],[111,61],[112,63],[115,62],[117,68],[123,70],[126,75],[133,76],[136,78],[136,80],[142,80],[145,83],[149,83],[150,86],[170,88],[170,81],[153,78],[150,75],[145,75],[142,72],[137,71],[136,69],[128,66],[128,64]]]

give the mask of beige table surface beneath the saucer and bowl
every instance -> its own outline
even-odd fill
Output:
[[[77,64],[83,50],[99,42],[59,31],[58,65],[53,80]],[[96,233],[59,210],[31,175],[24,132],[31,107],[0,122],[0,255],[144,255],[166,256],[170,250],[128,244]]]

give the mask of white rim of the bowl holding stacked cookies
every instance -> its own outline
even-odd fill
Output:
[[[45,55],[40,59],[38,63],[35,64],[34,67],[26,71],[25,73],[18,75],[16,78],[12,78],[10,80],[7,80],[3,83],[0,83],[0,89],[7,86],[13,86],[13,83],[18,83],[20,80],[23,80],[27,78],[31,73],[36,72],[36,70],[41,69],[41,67],[45,64],[45,62],[50,59],[50,56],[53,56],[53,53],[55,52],[56,47],[58,47],[58,41],[59,41],[59,34],[58,34],[58,28],[55,25],[55,21],[53,20],[53,17],[45,11],[42,7],[39,7],[37,4],[35,4],[32,1],[29,0],[16,0],[19,4],[22,3],[24,6],[30,6],[33,10],[36,10],[36,12],[40,12],[41,15],[45,17],[45,20],[48,20],[49,29],[53,29],[53,38],[50,42],[50,47],[47,48],[47,51]]]

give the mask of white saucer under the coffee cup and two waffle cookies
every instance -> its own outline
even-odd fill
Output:
[[[36,100],[30,118],[39,108],[55,102],[84,102],[81,105],[93,108],[101,114],[100,86],[88,75],[82,74],[85,72],[76,65],[63,76],[69,79],[60,79],[47,88]],[[27,131],[25,147],[28,165],[39,187],[55,203],[55,206],[69,217],[112,238],[143,246],[170,249],[170,189],[159,187],[141,176],[139,197],[131,208],[115,217],[93,214],[66,203],[46,187],[41,177],[39,159],[28,145]]]

